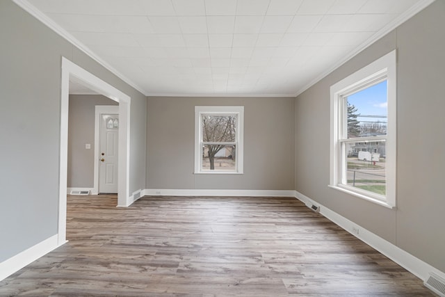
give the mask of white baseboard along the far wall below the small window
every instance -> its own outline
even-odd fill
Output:
[[[145,188],[143,196],[259,196],[295,197],[293,190],[213,190],[213,189],[167,189]]]

